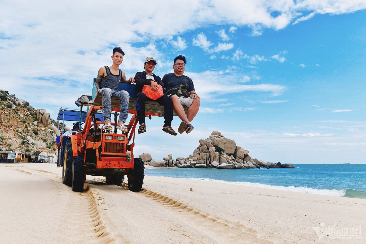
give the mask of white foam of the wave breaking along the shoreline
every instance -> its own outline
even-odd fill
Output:
[[[251,186],[251,187],[261,187],[261,188],[276,189],[276,190],[281,190],[281,191],[304,192],[304,193],[327,195],[327,196],[344,196],[346,194],[345,189],[344,190],[314,189],[314,188],[307,188],[307,187],[294,187],[292,185],[290,185],[288,187],[284,187],[284,186],[267,185],[267,184],[261,184],[261,183],[251,183],[251,182],[246,182],[246,181],[225,181],[225,180],[204,179],[204,178],[191,178],[191,179],[213,181],[213,182],[234,184],[234,185],[246,185],[246,186]]]

